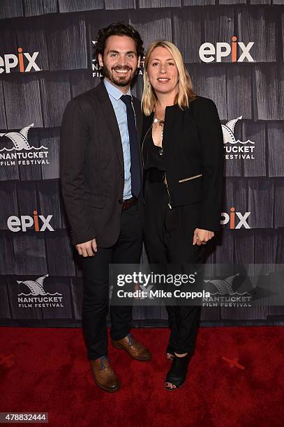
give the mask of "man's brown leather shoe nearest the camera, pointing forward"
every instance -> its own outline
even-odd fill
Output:
[[[117,380],[107,357],[102,356],[96,360],[91,360],[91,368],[93,370],[94,380],[100,389],[109,391],[110,393],[119,390],[119,380]]]

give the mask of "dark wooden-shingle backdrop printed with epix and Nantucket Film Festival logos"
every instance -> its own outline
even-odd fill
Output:
[[[283,6],[281,6],[283,5]],[[59,180],[68,101],[100,82],[100,27],[181,50],[223,123],[222,232],[209,263],[284,263],[284,0],[0,1],[0,324],[80,326],[82,271]],[[142,95],[142,70],[133,93]],[[204,121],[204,126],[206,126]],[[142,260],[144,260],[144,253]],[[135,307],[134,323],[166,323]],[[284,307],[204,307],[203,324],[283,324]]]

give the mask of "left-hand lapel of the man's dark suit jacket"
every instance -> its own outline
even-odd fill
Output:
[[[103,114],[105,116],[105,123],[110,127],[112,131],[113,142],[115,149],[117,150],[117,154],[119,156],[119,162],[121,164],[122,169],[124,170],[124,153],[122,150],[122,142],[121,136],[119,132],[119,125],[117,124],[117,117],[115,115],[114,109],[112,107],[111,100],[108,96],[107,89],[105,89],[105,84],[100,82],[96,87],[96,93],[98,99],[100,100],[100,107],[103,110]],[[103,126],[103,123],[102,123]]]

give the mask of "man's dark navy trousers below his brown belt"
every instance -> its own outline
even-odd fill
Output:
[[[121,213],[121,231],[116,244],[98,247],[94,257],[83,258],[83,327],[90,360],[107,355],[107,310],[109,302],[109,264],[138,264],[142,248],[142,227],[137,204]],[[112,340],[130,331],[131,306],[110,306]]]

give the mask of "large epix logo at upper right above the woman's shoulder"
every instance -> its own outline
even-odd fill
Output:
[[[254,62],[253,57],[250,54],[250,50],[255,42],[249,42],[245,45],[243,42],[237,41],[237,36],[232,36],[232,43],[216,43],[216,47],[212,43],[203,43],[199,49],[199,56],[203,62],[222,62],[224,57],[230,55],[231,62],[244,62],[247,59],[248,62]],[[237,47],[241,55],[238,58]],[[215,58],[216,57],[216,58]]]

